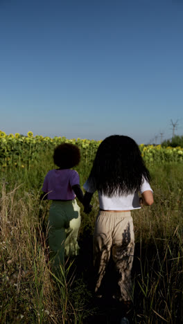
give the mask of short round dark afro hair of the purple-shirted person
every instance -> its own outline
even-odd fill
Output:
[[[77,145],[62,143],[55,147],[53,161],[60,169],[70,169],[80,162],[80,149]]]

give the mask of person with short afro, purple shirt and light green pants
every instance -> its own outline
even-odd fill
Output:
[[[55,148],[53,160],[58,169],[46,174],[41,198],[53,201],[49,210],[49,249],[53,270],[58,273],[60,264],[64,264],[64,254],[77,255],[79,249],[80,207],[76,197],[83,204],[83,194],[78,172],[71,168],[80,162],[80,149],[62,143]],[[87,211],[89,208],[85,208]]]

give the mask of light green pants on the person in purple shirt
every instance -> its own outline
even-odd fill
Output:
[[[64,256],[78,255],[80,207],[76,199],[53,201],[49,211],[49,249],[53,272],[57,273]]]

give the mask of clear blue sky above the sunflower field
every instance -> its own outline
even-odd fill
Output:
[[[183,0],[0,0],[0,109],[6,134],[182,135]]]

